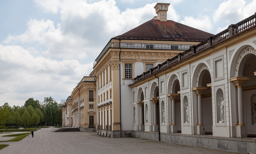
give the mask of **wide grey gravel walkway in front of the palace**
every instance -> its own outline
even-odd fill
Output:
[[[94,132],[52,132],[54,129],[56,128],[43,128],[35,131],[33,138],[26,137],[18,142],[0,142],[0,144],[10,145],[0,150],[0,154],[231,154],[225,151],[141,138],[106,138],[95,135]]]

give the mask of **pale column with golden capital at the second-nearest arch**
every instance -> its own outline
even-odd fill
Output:
[[[196,125],[196,133],[203,135],[204,133],[204,125],[203,125],[203,111],[202,111],[202,93],[206,90],[207,87],[194,87],[192,88],[193,91],[196,92],[197,95],[197,111],[198,111],[198,123]]]

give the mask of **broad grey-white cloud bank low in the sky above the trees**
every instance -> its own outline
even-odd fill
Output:
[[[24,104],[31,97],[69,96],[72,88],[92,71],[93,63],[33,56],[20,46],[0,45],[1,103]]]

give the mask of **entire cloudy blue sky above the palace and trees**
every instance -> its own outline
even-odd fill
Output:
[[[0,106],[67,99],[109,40],[156,16],[217,34],[253,15],[256,0],[1,0]]]

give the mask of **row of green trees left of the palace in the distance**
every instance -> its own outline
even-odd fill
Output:
[[[62,125],[62,109],[65,99],[57,103],[53,98],[45,97],[44,101],[29,98],[22,106],[11,107],[8,103],[0,106],[0,129],[14,126],[31,127],[37,125],[56,126]]]

